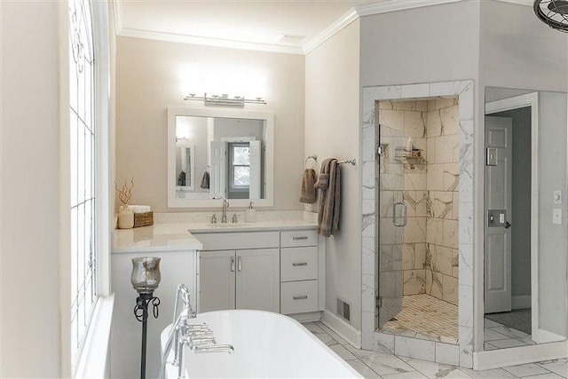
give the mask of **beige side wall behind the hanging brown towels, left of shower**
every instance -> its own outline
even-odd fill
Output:
[[[318,154],[318,163],[359,159],[359,20],[306,56],[305,104],[305,155]],[[351,303],[351,324],[360,329],[360,166],[341,169],[341,232],[327,239],[326,309],[335,314],[337,297]]]

